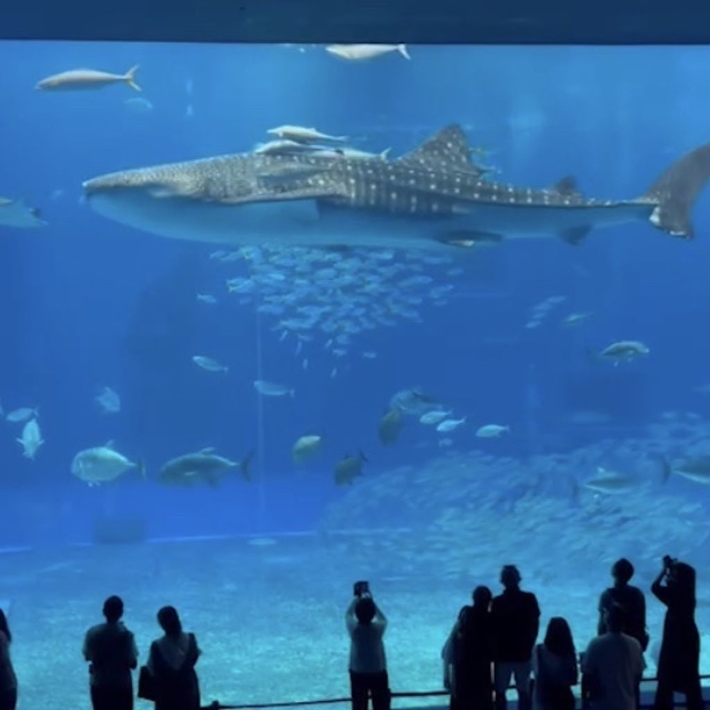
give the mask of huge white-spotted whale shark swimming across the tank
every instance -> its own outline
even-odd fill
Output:
[[[485,179],[452,125],[395,160],[241,153],[102,175],[84,191],[100,214],[175,239],[453,249],[520,236],[577,244],[594,227],[638,220],[690,238],[709,177],[706,143],[633,200],[588,199],[572,178],[515,187]]]

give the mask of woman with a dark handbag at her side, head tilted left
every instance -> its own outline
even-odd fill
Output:
[[[174,606],[158,611],[165,634],[151,643],[148,670],[154,679],[155,710],[199,710],[200,682],[195,664],[200,657],[194,633],[182,630]]]

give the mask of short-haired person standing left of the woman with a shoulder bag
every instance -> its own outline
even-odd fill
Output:
[[[131,670],[138,665],[133,634],[121,623],[124,603],[118,596],[104,601],[106,623],[92,626],[84,638],[89,687],[94,710],[132,710]]]

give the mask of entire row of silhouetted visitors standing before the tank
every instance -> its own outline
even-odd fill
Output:
[[[579,659],[569,624],[559,616],[550,619],[544,640],[536,645],[540,607],[535,594],[520,589],[516,567],[503,567],[502,594],[494,597],[486,586],[476,587],[473,603],[461,608],[442,649],[451,709],[506,710],[506,689],[512,679],[520,710],[574,710],[572,686],[581,671],[584,710],[638,710],[649,635],[643,591],[629,584],[633,572],[627,559],[613,565],[614,584],[599,599],[598,635]],[[666,606],[655,710],[672,709],[674,692],[685,695],[688,710],[702,710],[694,568],[664,557],[651,591]],[[133,633],[121,622],[123,613],[121,599],[109,597],[104,602],[105,623],[89,628],[84,639],[94,710],[133,708],[132,671],[138,667],[138,650]],[[352,708],[367,710],[371,698],[373,710],[389,710],[383,644],[387,619],[366,581],[354,585],[345,622],[351,640]],[[158,611],[158,623],[163,635],[151,643],[146,665],[138,673],[138,697],[153,701],[156,710],[198,710],[195,665],[200,648],[195,635],[182,630],[172,606]],[[0,710],[15,710],[17,702],[11,642],[0,609]]]

